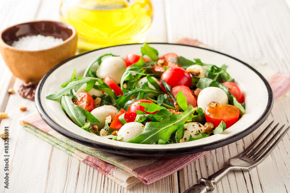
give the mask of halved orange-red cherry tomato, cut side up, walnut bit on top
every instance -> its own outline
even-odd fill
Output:
[[[220,124],[221,121],[224,121],[226,123],[226,128],[229,128],[238,121],[240,110],[238,107],[230,104],[223,104],[213,108],[207,106],[204,115],[206,121],[212,122],[215,128]]]

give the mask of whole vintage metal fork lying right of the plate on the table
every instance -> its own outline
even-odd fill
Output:
[[[267,155],[269,155],[272,150],[276,147],[276,145],[281,141],[284,135],[287,133],[290,127],[286,128],[284,132],[278,137],[278,139],[270,146],[270,144],[274,141],[274,139],[279,135],[281,130],[284,128],[283,125],[274,135],[269,139],[269,141],[265,144],[270,135],[276,130],[279,123],[268,133],[268,135],[262,139],[262,141],[258,144],[259,140],[262,136],[267,132],[267,130],[271,127],[273,121],[262,131],[262,133],[253,141],[253,143],[247,147],[242,153],[239,155],[232,157],[229,159],[228,166],[220,169],[215,172],[211,176],[206,178],[199,179],[199,183],[193,185],[191,188],[187,189],[184,193],[206,193],[212,192],[215,187],[214,184],[218,183],[229,171],[232,170],[242,170],[249,171],[256,167],[259,163],[261,163]],[[256,144],[258,144],[256,146]],[[264,145],[265,144],[265,145]],[[264,145],[264,146],[263,146]],[[269,147],[270,146],[270,147]],[[266,151],[266,152],[265,152]]]

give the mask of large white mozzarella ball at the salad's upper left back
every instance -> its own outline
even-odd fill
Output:
[[[121,83],[121,78],[126,71],[126,63],[119,56],[112,56],[102,61],[96,71],[98,78],[105,78],[105,76],[112,79],[116,84]]]

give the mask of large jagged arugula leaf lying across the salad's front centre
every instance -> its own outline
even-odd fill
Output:
[[[154,106],[154,104],[152,106]],[[159,139],[165,141],[165,138],[169,139],[171,137],[173,131],[180,128],[184,129],[184,123],[196,110],[196,108],[189,106],[186,111],[177,115],[172,114],[167,109],[161,109],[156,113],[156,115],[162,117],[162,120],[160,122],[147,122],[143,133],[128,142],[137,144],[153,144],[155,141],[159,141]]]

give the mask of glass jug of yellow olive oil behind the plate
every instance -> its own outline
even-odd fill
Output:
[[[153,17],[150,0],[63,0],[60,12],[76,28],[80,50],[143,43]]]

